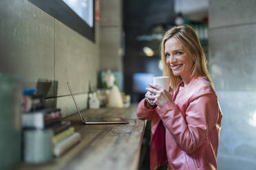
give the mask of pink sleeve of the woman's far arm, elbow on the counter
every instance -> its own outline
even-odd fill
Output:
[[[152,120],[156,114],[156,108],[150,110],[145,107],[145,99],[142,99],[142,101],[140,101],[137,108],[138,119]]]

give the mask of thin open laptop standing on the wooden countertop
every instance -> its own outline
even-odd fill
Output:
[[[127,124],[128,122],[125,119],[122,119],[120,117],[116,118],[107,118],[107,117],[83,117],[83,115],[80,112],[80,109],[78,108],[78,105],[76,104],[76,100],[74,99],[74,95],[72,93],[72,90],[70,88],[70,84],[67,82],[67,88],[70,90],[70,94],[72,96],[72,99],[74,101],[74,104],[76,106],[76,110],[79,114],[79,117],[85,125],[96,125],[96,124]]]

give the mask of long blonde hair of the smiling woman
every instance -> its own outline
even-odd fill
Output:
[[[164,38],[162,38],[160,52],[163,64],[163,75],[170,77],[171,88],[175,90],[175,88],[177,88],[178,86],[178,83],[182,80],[180,76],[173,75],[173,72],[171,71],[171,68],[168,66],[166,62],[166,57],[164,55],[165,42],[167,42],[169,38],[173,37],[176,38],[182,44],[184,50],[189,54],[189,56],[194,62],[191,78],[200,76],[206,77],[214,89],[213,81],[211,80],[211,76],[207,69],[207,62],[204,50],[202,49],[198,36],[195,34],[193,28],[189,25],[180,25],[178,27],[174,26],[171,29],[169,29],[164,34]]]

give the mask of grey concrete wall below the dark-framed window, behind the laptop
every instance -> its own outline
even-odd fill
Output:
[[[38,79],[58,81],[57,107],[76,112],[68,95],[70,82],[81,109],[87,106],[89,82],[96,87],[100,70],[100,27],[96,42],[74,32],[27,0],[0,1],[0,73],[18,77],[24,88]]]

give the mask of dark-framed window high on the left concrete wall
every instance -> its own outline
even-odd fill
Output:
[[[92,42],[95,0],[28,0]]]

